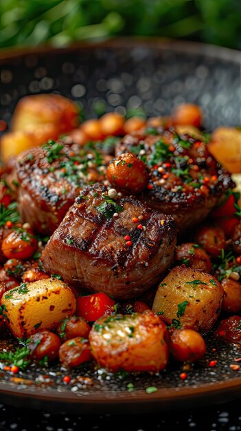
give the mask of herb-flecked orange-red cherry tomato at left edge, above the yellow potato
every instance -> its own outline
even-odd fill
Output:
[[[31,257],[38,249],[38,242],[31,229],[16,228],[3,239],[1,250],[8,259]]]

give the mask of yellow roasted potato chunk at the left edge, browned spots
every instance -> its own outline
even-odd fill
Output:
[[[22,283],[1,299],[6,323],[15,337],[29,337],[40,329],[54,329],[76,311],[71,289],[54,278]]]

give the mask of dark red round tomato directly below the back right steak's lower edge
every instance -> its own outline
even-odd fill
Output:
[[[200,244],[209,255],[218,257],[222,249],[226,247],[225,232],[220,227],[200,227],[196,233],[196,242]]]

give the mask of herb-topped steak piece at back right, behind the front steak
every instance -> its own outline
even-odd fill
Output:
[[[173,215],[178,231],[205,219],[227,189],[235,187],[201,140],[179,136],[173,127],[142,129],[122,138],[116,156],[133,152],[150,171],[141,199],[149,207]]]

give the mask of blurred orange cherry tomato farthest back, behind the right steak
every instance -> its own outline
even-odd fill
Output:
[[[174,109],[172,118],[174,124],[188,124],[199,128],[202,120],[202,113],[198,106],[192,105],[192,103],[184,103]]]

